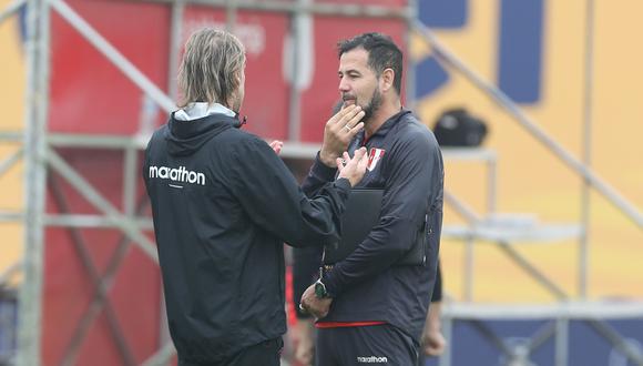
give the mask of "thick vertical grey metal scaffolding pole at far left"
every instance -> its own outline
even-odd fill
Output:
[[[49,4],[27,3],[24,133],[24,256],[18,311],[17,365],[40,365],[42,262],[44,252],[44,151],[49,99]]]

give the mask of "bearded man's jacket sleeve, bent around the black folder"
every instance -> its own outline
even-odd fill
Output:
[[[441,174],[440,152],[423,133],[407,133],[387,152],[379,223],[367,238],[324,279],[328,292],[341,292],[387,271],[415,243],[425,222],[431,187]]]

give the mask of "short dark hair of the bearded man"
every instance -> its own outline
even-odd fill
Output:
[[[384,70],[392,69],[392,85],[401,95],[402,52],[390,37],[381,33],[364,33],[337,43],[338,57],[354,49],[363,48],[368,52],[368,67],[379,78]]]

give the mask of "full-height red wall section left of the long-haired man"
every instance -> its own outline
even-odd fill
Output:
[[[81,1],[69,4],[162,90],[167,84],[170,7],[133,1]],[[118,19],[118,22],[114,22]],[[132,134],[139,130],[143,92],[55,12],[52,16],[52,70],[49,129],[53,132]],[[165,119],[165,113],[159,113]],[[64,153],[112,205],[121,207],[122,154],[105,151]],[[99,213],[69,184],[62,184],[72,213]],[[141,192],[141,191],[139,191]],[[58,211],[53,197],[49,211]],[[100,273],[122,234],[115,230],[82,230]],[[43,364],[58,365],[93,295],[94,285],[65,230],[45,233],[43,288]],[[137,363],[159,344],[159,268],[131,248],[109,293],[125,342]],[[120,365],[104,314],[82,339],[78,365]]]

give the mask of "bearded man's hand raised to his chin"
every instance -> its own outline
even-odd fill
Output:
[[[364,128],[364,111],[359,105],[343,108],[326,122],[324,128],[324,143],[319,159],[326,166],[335,166],[335,160],[348,149],[350,140]]]

